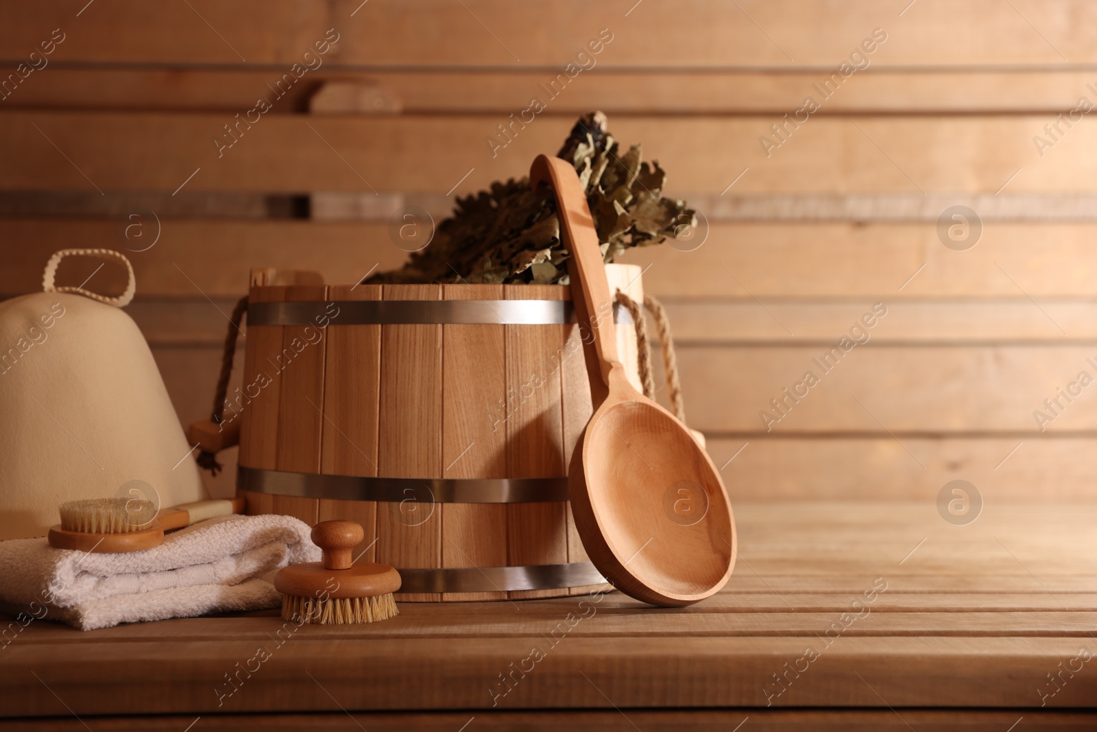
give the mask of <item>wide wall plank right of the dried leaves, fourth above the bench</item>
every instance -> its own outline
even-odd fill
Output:
[[[985,224],[973,248],[955,251],[941,244],[936,222],[714,223],[698,249],[647,247],[622,261],[651,266],[644,273],[651,292],[693,299],[1090,296],[1097,294],[1088,274],[1097,267],[1090,232],[1097,227],[1082,223]]]

